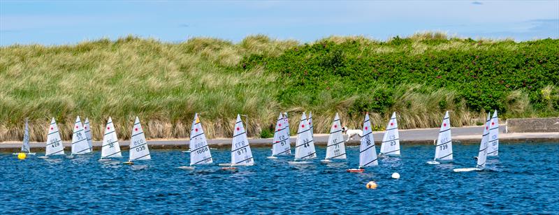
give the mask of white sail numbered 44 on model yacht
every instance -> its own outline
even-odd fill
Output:
[[[317,151],[314,150],[314,140],[310,131],[309,122],[305,116],[305,112],[301,115],[301,121],[297,131],[297,140],[295,142],[295,159],[310,159],[317,157]]]

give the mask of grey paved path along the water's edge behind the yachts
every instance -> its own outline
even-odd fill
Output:
[[[453,142],[460,143],[479,143],[481,140],[482,126],[469,126],[452,128]],[[400,130],[400,142],[402,144],[433,144],[439,133],[438,128],[425,129],[409,129]],[[501,142],[559,142],[559,133],[504,133],[504,125],[499,127],[499,139]],[[373,132],[375,142],[379,144],[382,141],[384,131]],[[189,141],[187,139],[180,140],[148,140],[152,149],[188,149]],[[328,141],[328,134],[314,134],[314,142],[317,145],[325,145]],[[270,147],[272,139],[250,139],[251,147]],[[291,144],[295,142],[295,137],[291,137]],[[119,141],[122,149],[127,149],[130,142],[128,140]],[[231,139],[215,139],[208,140],[211,147],[231,147]],[[347,144],[359,144],[357,140],[350,140]],[[101,141],[93,142],[94,148],[99,150]],[[32,151],[41,151],[45,148],[44,142],[32,142]],[[71,147],[70,142],[64,142],[66,150]],[[18,151],[21,148],[21,142],[1,142],[1,151]]]

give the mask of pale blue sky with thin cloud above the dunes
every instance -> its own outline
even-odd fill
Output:
[[[470,38],[559,38],[559,1],[4,1],[0,45],[73,44],[133,34],[179,42],[247,35],[312,42],[418,31]]]

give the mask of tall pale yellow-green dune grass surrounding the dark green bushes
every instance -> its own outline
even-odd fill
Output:
[[[442,34],[416,34],[410,37],[416,49],[452,52],[476,49],[474,45]],[[349,43],[361,41],[363,52],[383,54],[402,48],[368,38],[332,36],[321,41]],[[423,40],[450,40],[428,44]],[[508,42],[507,42],[508,43]],[[512,43],[511,47],[516,47]],[[92,40],[76,45],[10,45],[0,47],[0,141],[20,140],[24,119],[29,117],[32,141],[45,141],[51,117],[58,122],[64,140],[70,140],[76,116],[89,117],[93,137],[101,140],[103,127],[112,117],[119,138],[128,139],[134,117],[140,117],[147,138],[187,138],[194,113],[201,116],[210,138],[226,138],[233,133],[236,114],[247,115],[247,133],[259,136],[272,126],[279,112],[287,111],[290,123],[298,124],[300,113],[313,112],[316,133],[327,132],[335,112],[342,122],[360,128],[363,114],[371,114],[377,130],[386,126],[391,112],[398,112],[400,128],[436,127],[445,110],[451,110],[453,126],[473,125],[483,117],[457,99],[456,89],[426,91],[425,84],[391,86],[378,82],[370,94],[392,89],[393,104],[378,112],[356,104],[369,99],[368,93],[344,94],[307,90],[282,97],[288,76],[268,71],[266,66],[249,66],[243,59],[279,57],[300,45],[294,40],[274,40],[267,36],[248,36],[240,43],[215,38],[192,38],[182,43],[163,43],[154,39],[128,36],[118,40]],[[483,47],[486,48],[486,47]],[[262,62],[266,64],[267,62]],[[292,68],[297,70],[297,68]],[[315,80],[320,82],[321,80]],[[371,80],[374,82],[374,80]],[[315,92],[313,83],[308,91]],[[332,89],[336,89],[332,83]],[[542,90],[547,107],[556,112],[558,88]],[[535,117],[528,94],[518,89],[507,94],[510,112],[504,117]],[[547,96],[547,97],[545,97]],[[279,99],[285,98],[285,99]],[[444,105],[441,105],[444,101]],[[245,119],[245,117],[243,117]],[[296,126],[291,126],[292,133]]]

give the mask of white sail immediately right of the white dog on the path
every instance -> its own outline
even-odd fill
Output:
[[[363,137],[361,137],[361,147],[359,147],[359,166],[379,165],[375,138],[372,136],[371,121],[369,113],[365,114],[363,121]]]

